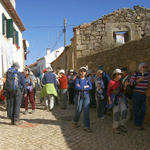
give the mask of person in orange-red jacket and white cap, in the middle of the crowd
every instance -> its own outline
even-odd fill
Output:
[[[60,77],[59,77],[59,83],[60,83],[60,98],[62,100],[62,109],[67,108],[67,101],[68,101],[68,94],[67,94],[67,89],[68,89],[68,80],[65,75],[65,71],[63,69],[60,70]]]

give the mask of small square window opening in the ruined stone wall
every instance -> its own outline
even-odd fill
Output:
[[[127,31],[113,32],[113,38],[115,40],[115,43],[118,44],[124,44],[127,41],[129,41],[129,36]]]

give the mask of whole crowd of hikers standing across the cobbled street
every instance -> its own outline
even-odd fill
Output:
[[[54,109],[55,104],[61,103],[62,109],[67,105],[74,104],[75,114],[72,124],[79,127],[79,119],[84,111],[84,130],[91,132],[90,106],[96,106],[97,117],[104,119],[108,110],[112,111],[113,131],[117,134],[127,132],[127,116],[132,101],[133,120],[136,129],[143,130],[143,122],[146,113],[146,91],[150,80],[150,72],[146,63],[140,63],[137,72],[128,74],[127,68],[115,69],[110,77],[99,66],[96,73],[90,72],[86,67],[81,67],[76,73],[73,69],[65,73],[65,70],[51,67],[43,70],[41,77],[40,101],[44,102],[49,111]],[[18,88],[15,92],[9,91],[8,72],[15,68],[18,76]],[[28,113],[28,98],[35,112],[35,86],[34,78],[29,68],[24,73],[17,71],[18,66],[13,64],[6,73],[4,93],[7,96],[7,113],[12,124],[19,124],[19,112],[21,97],[25,101],[25,114]],[[13,71],[14,72],[14,71]],[[15,75],[15,73],[13,73]],[[11,88],[10,88],[11,89]]]

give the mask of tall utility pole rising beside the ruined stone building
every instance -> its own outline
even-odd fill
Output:
[[[64,19],[64,69],[65,71],[67,70],[67,54],[66,54],[66,24],[67,24],[67,20],[66,18]]]

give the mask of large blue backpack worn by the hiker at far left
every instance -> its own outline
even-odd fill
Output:
[[[19,78],[18,78],[18,71],[15,68],[8,69],[6,73],[6,90],[9,93],[14,93],[19,88]]]

